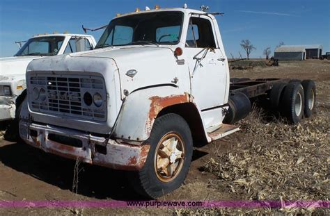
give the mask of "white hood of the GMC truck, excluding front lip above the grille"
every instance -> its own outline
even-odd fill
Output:
[[[171,81],[178,69],[173,51],[168,47],[107,48],[70,56],[113,59],[118,67],[122,94],[123,90],[130,93],[151,85],[173,85]],[[134,77],[127,76],[129,70],[136,71]]]

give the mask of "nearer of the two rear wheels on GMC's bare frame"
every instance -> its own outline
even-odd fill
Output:
[[[304,88],[300,83],[289,83],[281,99],[281,115],[290,124],[297,124],[304,115]]]

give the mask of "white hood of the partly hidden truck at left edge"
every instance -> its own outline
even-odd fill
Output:
[[[1,76],[13,77],[24,75],[26,66],[31,60],[42,58],[41,56],[15,56],[8,58],[0,58],[0,78]]]

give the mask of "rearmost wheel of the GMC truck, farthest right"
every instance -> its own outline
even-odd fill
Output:
[[[315,110],[316,103],[316,85],[314,81],[305,80],[301,82],[304,88],[305,101],[304,101],[304,116],[311,117]]]

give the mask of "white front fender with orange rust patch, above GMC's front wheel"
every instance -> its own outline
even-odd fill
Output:
[[[173,86],[148,88],[129,94],[118,115],[113,135],[118,139],[145,141],[159,112],[168,106],[188,103],[189,94]]]

